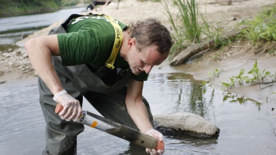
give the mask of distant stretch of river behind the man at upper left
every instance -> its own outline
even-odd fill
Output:
[[[73,13],[80,14],[84,8],[62,9],[51,13],[0,18],[0,50],[16,48],[22,35],[32,34],[54,22],[64,20]]]

